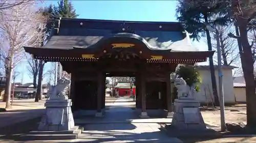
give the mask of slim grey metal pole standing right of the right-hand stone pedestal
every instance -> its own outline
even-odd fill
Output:
[[[223,83],[222,83],[222,69],[221,69],[221,47],[220,47],[220,33],[216,30],[217,38],[217,54],[218,54],[218,75],[219,75],[219,95],[220,95],[220,111],[221,111],[221,131],[225,131],[225,107],[223,97]]]

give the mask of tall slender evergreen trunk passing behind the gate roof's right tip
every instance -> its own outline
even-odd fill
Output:
[[[204,20],[205,20],[205,22],[208,22],[208,18],[206,15],[204,15]],[[206,32],[208,50],[211,51],[212,47],[211,47],[210,33],[208,30],[206,30],[205,32]],[[217,83],[216,83],[215,69],[214,69],[214,60],[213,60],[212,56],[209,57],[209,65],[210,65],[212,93],[214,94],[214,105],[219,106],[220,100],[218,97]]]

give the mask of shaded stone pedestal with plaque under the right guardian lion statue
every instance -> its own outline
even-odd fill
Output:
[[[172,126],[180,130],[206,130],[199,106],[195,99],[175,99]]]

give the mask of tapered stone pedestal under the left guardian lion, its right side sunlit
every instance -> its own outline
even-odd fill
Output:
[[[39,124],[39,131],[67,131],[74,128],[71,99],[46,100],[45,115]]]

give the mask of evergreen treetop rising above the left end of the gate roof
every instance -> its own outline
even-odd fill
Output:
[[[68,0],[60,0],[58,6],[54,6],[54,16],[63,18],[77,18],[76,10]]]

